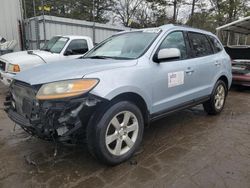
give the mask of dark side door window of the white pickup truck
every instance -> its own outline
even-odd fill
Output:
[[[88,43],[84,39],[72,40],[66,50],[67,55],[81,55],[88,51]]]

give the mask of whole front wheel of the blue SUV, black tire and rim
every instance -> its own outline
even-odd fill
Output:
[[[105,164],[119,164],[138,149],[143,129],[143,116],[135,104],[114,102],[90,119],[87,127],[89,151]]]

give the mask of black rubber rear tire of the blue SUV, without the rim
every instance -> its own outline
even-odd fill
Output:
[[[224,101],[223,104],[220,105],[220,108],[216,107],[216,95],[218,92],[218,88],[219,87],[223,87],[224,88]],[[210,99],[208,101],[206,101],[205,103],[203,103],[203,108],[205,110],[205,112],[207,112],[209,115],[217,115],[219,114],[225,105],[226,102],[226,96],[227,96],[227,87],[224,81],[222,80],[218,80],[214,86],[213,92],[210,96]]]

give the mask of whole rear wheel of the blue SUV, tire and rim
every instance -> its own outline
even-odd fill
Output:
[[[214,86],[210,99],[203,103],[204,110],[209,115],[219,114],[224,108],[227,92],[225,82],[218,80]]]

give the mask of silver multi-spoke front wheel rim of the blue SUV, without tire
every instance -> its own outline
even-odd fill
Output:
[[[138,120],[129,111],[116,114],[110,121],[105,135],[105,143],[109,152],[116,156],[127,153],[138,137]]]

